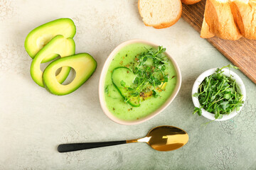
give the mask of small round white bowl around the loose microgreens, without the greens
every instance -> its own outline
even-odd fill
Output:
[[[200,86],[200,84],[202,83],[202,81],[210,76],[211,74],[215,73],[217,68],[214,69],[208,69],[206,72],[203,72],[195,81],[195,83],[193,84],[193,89],[192,89],[192,101],[194,106],[200,108],[201,104],[198,101],[197,97],[193,97],[193,94],[198,93],[198,87]],[[240,87],[240,91],[243,95],[242,101],[245,101],[246,98],[246,91],[245,91],[245,84],[243,84],[242,79],[238,76],[238,74],[235,74],[235,72],[232,72],[229,69],[222,69],[223,74],[225,74],[226,76],[230,77],[230,75],[232,75],[232,79],[235,79],[235,81],[238,83],[238,86]],[[233,111],[231,112],[229,115],[223,115],[223,118],[221,119],[217,119],[215,120],[214,118],[214,114],[213,113],[209,113],[208,111],[206,111],[205,109],[201,108],[202,111],[202,115],[205,118],[208,118],[210,120],[215,120],[215,121],[223,121],[223,120],[229,120],[230,118],[233,118],[235,115],[237,115],[242,107],[244,106],[244,104],[242,104],[242,106],[239,108],[239,111]]]

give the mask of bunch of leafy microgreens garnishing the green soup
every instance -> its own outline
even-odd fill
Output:
[[[129,101],[132,97],[144,96],[145,93],[151,91],[151,95],[158,97],[159,90],[164,86],[164,83],[168,82],[169,74],[166,74],[166,64],[168,59],[163,55],[166,48],[159,46],[157,50],[151,48],[146,49],[146,52],[142,52],[134,57],[134,65],[129,67],[136,75],[132,86],[126,86],[122,80],[120,84],[131,91],[131,96],[126,98],[125,101]]]

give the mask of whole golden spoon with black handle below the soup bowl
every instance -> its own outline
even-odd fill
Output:
[[[58,152],[72,152],[133,142],[146,142],[153,149],[158,151],[171,151],[186,145],[188,142],[188,134],[180,128],[165,125],[151,129],[146,137],[137,140],[62,144],[58,145]]]

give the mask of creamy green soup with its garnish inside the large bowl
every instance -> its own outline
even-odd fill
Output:
[[[176,71],[165,50],[134,43],[117,52],[105,79],[110,113],[121,120],[137,120],[166,102],[176,86]]]

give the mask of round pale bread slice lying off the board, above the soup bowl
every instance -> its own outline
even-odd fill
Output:
[[[139,14],[146,26],[168,28],[181,18],[181,0],[139,0]]]

